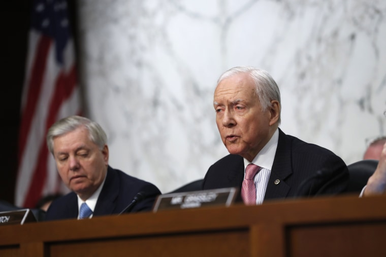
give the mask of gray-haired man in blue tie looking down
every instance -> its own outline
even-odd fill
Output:
[[[87,118],[57,121],[48,130],[47,145],[61,179],[72,191],[51,203],[47,221],[150,210],[160,194],[152,183],[109,166],[106,133]]]

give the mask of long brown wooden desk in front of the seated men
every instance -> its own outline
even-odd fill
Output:
[[[386,256],[386,196],[0,226],[0,256]]]

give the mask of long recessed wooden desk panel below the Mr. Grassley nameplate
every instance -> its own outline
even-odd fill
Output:
[[[55,243],[50,256],[249,256],[248,231],[198,232],[189,234],[130,237]]]

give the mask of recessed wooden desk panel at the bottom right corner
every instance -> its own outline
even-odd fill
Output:
[[[386,256],[386,221],[288,228],[287,256]]]

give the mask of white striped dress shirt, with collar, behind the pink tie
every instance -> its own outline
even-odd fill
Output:
[[[279,130],[276,129],[271,139],[264,148],[254,157],[251,163],[258,165],[260,170],[253,178],[254,186],[256,187],[256,204],[262,204],[264,201],[265,192],[268,186],[269,176],[271,175],[273,160],[275,159],[277,142],[279,140]],[[244,158],[244,177],[245,168],[250,164]]]

